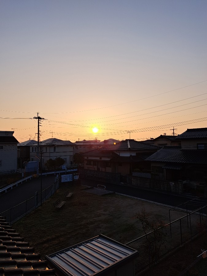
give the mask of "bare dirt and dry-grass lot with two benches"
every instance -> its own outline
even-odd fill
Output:
[[[142,208],[145,208],[153,221],[161,219],[166,224],[169,222],[169,208],[166,206],[117,194],[90,194],[84,188],[86,187],[61,184],[56,194],[44,202],[42,207],[13,224],[13,228],[25,237],[30,247],[35,247],[42,259],[45,255],[99,234],[123,244],[142,236],[144,232],[135,217]],[[66,190],[74,193],[71,198],[64,197]],[[59,210],[53,206],[58,198],[66,201],[65,206]],[[174,219],[180,215],[179,212],[175,213]]]

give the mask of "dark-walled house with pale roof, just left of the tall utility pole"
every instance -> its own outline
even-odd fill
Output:
[[[27,140],[25,142],[17,144],[17,163],[18,167],[22,168],[24,162],[30,160],[30,146],[36,144],[35,140]]]

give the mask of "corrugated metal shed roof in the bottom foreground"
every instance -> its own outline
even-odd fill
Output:
[[[103,235],[56,252],[45,258],[65,275],[98,275],[125,258],[136,258],[138,251]]]

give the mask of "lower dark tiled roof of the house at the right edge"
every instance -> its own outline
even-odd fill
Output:
[[[149,156],[146,161],[207,164],[206,151],[182,150],[181,147],[164,147]]]

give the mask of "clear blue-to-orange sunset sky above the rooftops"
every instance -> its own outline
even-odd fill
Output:
[[[37,140],[37,113],[40,141],[207,127],[206,25],[206,0],[0,0],[0,130]]]

